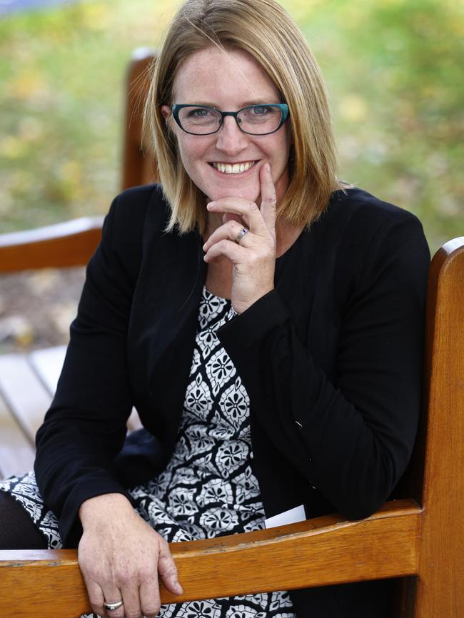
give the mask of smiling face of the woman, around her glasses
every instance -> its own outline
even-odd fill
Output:
[[[172,102],[238,111],[254,103],[281,101],[272,81],[248,52],[221,51],[211,46],[196,51],[181,64],[173,83]],[[242,133],[235,118],[226,116],[217,133],[198,136],[182,131],[172,118],[169,106],[163,106],[161,111],[176,135],[188,176],[210,200],[233,196],[259,203],[259,168],[268,162],[276,184],[277,202],[281,201],[288,187],[291,144],[288,123],[276,133],[253,136]],[[218,163],[247,165],[245,171],[227,173],[218,169],[221,168]]]

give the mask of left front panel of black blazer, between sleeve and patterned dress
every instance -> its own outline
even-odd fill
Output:
[[[141,420],[169,449],[176,439],[206,276],[201,238],[161,233],[143,251],[128,363]]]

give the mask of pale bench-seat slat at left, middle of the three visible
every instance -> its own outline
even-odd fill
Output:
[[[51,394],[34,372],[26,354],[0,355],[0,393],[34,444]]]

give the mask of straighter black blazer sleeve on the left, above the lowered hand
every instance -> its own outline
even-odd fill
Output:
[[[106,216],[56,395],[36,435],[36,480],[59,517],[65,546],[79,539],[84,500],[111,492],[128,497],[111,473],[111,460],[123,446],[132,407],[126,333],[144,213],[133,195],[121,194]]]

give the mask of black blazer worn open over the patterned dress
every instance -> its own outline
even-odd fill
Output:
[[[167,216],[159,186],[112,204],[37,434],[37,481],[68,545],[81,502],[126,493],[176,442],[206,266],[200,236],[165,233]],[[218,331],[250,397],[267,517],[305,503],[308,517],[358,519],[392,494],[418,423],[429,260],[415,216],[338,191],[278,258],[275,290]],[[132,405],[147,431],[121,455]],[[300,618],[373,618],[385,591],[367,582],[292,597]]]

